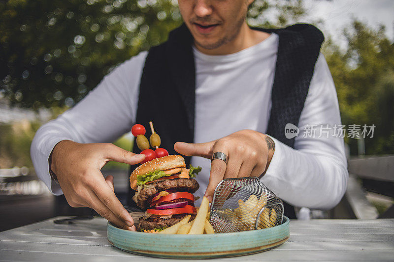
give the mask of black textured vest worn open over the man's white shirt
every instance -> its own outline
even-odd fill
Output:
[[[266,134],[293,147],[294,138],[285,137],[285,125],[298,124],[324,36],[306,24],[256,29],[279,35]],[[140,81],[135,122],[149,127],[148,122],[153,121],[161,147],[169,154],[176,153],[175,142],[193,143],[194,139],[196,70],[192,45],[193,37],[184,24],[171,31],[166,42],[149,50]],[[133,152],[140,150],[134,146]],[[190,157],[185,160],[189,165]],[[296,218],[293,206],[285,204],[285,215]]]

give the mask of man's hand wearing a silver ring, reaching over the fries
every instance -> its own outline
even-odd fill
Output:
[[[211,163],[205,196],[212,201],[216,186],[224,178],[264,175],[275,151],[274,141],[254,130],[241,130],[227,137],[201,144],[177,142],[174,149],[187,156],[212,158],[215,152],[228,156],[228,164],[221,159]]]

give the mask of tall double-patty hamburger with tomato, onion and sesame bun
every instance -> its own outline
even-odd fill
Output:
[[[180,155],[155,158],[137,167],[130,176],[130,186],[137,191],[133,201],[142,209],[136,229],[157,233],[185,216],[196,216],[195,193],[199,187],[195,177],[201,168],[186,168]]]

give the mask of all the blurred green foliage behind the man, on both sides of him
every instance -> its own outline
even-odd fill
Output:
[[[302,21],[305,12],[302,0],[255,0],[247,21],[251,26],[284,27]],[[324,21],[308,22],[319,27]],[[51,108],[55,117],[117,64],[165,41],[181,23],[176,0],[1,1],[0,99],[33,110]],[[371,29],[360,21],[340,34],[346,37],[346,48],[337,45],[338,35],[326,35],[323,53],[343,124],[375,124],[374,138],[365,141],[366,154],[392,154],[393,43],[384,27]],[[0,166],[31,165],[29,146],[39,123],[30,125],[23,132],[17,132],[15,124],[0,126],[7,134],[0,139],[0,152],[7,152],[0,156]],[[129,141],[116,143],[130,149]],[[346,143],[357,154],[357,141]]]

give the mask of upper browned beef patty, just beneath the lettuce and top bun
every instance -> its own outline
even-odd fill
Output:
[[[178,192],[194,193],[197,191],[198,187],[199,185],[196,179],[193,178],[174,178],[159,180],[150,184],[148,187],[144,186],[144,188],[139,191],[139,194],[136,198],[137,206],[141,207],[142,209],[148,208],[149,204],[147,203],[147,200],[153,195],[163,190],[175,189]]]

